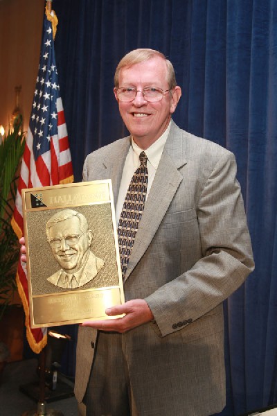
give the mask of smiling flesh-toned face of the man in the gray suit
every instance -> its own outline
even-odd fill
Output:
[[[166,62],[159,56],[123,68],[118,76],[119,87],[135,87],[139,91],[145,87],[166,90],[167,79]],[[116,89],[114,94],[116,96]],[[175,87],[157,103],[146,101],[141,92],[131,103],[118,101],[120,115],[139,147],[146,149],[159,139],[168,127],[180,96],[180,87]]]

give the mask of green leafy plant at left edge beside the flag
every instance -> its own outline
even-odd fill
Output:
[[[22,116],[0,144],[0,320],[16,289],[19,242],[10,223],[17,193],[17,168],[24,152]]]

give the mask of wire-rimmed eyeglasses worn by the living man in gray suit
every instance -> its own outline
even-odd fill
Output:
[[[134,100],[134,98],[136,98],[136,94],[141,92],[146,101],[149,101],[149,103],[157,103],[158,101],[161,101],[161,98],[163,98],[168,91],[170,91],[170,89],[161,89],[156,87],[147,87],[141,90],[133,87],[123,87],[117,88],[116,94],[119,101],[123,101],[123,103],[130,103]]]

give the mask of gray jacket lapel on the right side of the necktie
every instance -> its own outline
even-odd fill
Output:
[[[183,179],[183,176],[179,173],[179,168],[186,164],[183,152],[184,146],[181,129],[172,122],[166,146],[163,149],[163,154],[161,155],[148,199],[145,202],[143,216],[139,223],[138,232],[136,233],[125,279],[129,277],[145,253],[145,250],[150,245]]]

